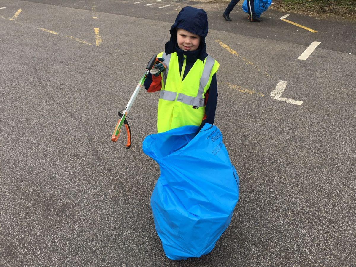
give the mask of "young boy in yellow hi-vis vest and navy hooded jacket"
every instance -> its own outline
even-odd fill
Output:
[[[148,92],[161,91],[157,131],[186,125],[214,123],[219,63],[206,52],[208,15],[203,9],[184,7],[172,25],[171,39],[145,80]]]

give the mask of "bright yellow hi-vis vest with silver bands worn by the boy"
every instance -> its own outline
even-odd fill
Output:
[[[161,73],[157,131],[165,132],[186,125],[199,126],[205,115],[205,93],[210,87],[211,78],[218,71],[219,63],[210,56],[204,62],[197,59],[183,79],[186,56],[181,73],[177,52],[168,55],[162,52],[157,57],[164,57],[167,65],[167,69]]]

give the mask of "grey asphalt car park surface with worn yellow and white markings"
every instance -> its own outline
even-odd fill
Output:
[[[138,95],[129,150],[110,137],[186,5],[208,13],[240,200],[212,252],[171,261],[142,151],[158,93]],[[226,22],[225,7],[0,0],[0,266],[356,265],[356,24],[272,9],[250,23],[240,5]]]

